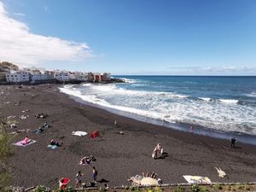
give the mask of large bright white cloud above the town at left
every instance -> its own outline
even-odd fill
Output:
[[[0,61],[27,67],[44,61],[79,61],[90,53],[85,43],[33,34],[25,23],[10,18],[0,2]]]

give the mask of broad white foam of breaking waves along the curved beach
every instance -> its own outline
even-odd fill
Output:
[[[77,90],[66,85],[61,91],[96,106],[118,110],[122,114],[144,116],[148,122],[159,119],[256,135],[255,108],[236,104],[238,100],[219,99],[219,102],[208,102],[212,99],[200,97],[206,101],[201,102],[172,92],[126,90],[116,84],[92,84],[86,88],[80,86]]]

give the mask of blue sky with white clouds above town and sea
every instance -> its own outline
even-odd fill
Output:
[[[119,75],[256,75],[256,1],[0,0],[0,61]]]

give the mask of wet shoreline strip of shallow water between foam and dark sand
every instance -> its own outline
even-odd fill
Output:
[[[63,86],[59,87],[58,89],[63,88]],[[165,120],[161,119],[154,119],[154,118],[147,118],[142,115],[138,115],[135,113],[129,113],[125,111],[121,111],[116,108],[108,108],[104,107],[101,105],[97,105],[96,103],[93,102],[87,102],[84,101],[82,98],[79,96],[73,96],[68,93],[63,92],[60,90],[62,93],[66,94],[76,102],[79,102],[81,104],[93,107],[93,108],[100,108],[102,110],[108,111],[108,113],[113,113],[117,114],[126,118],[131,118],[140,122],[152,124],[152,125],[157,125],[157,126],[163,126],[166,127],[167,129],[172,129],[172,130],[177,130],[177,131],[183,131],[183,132],[191,132],[190,131],[190,125],[189,124],[184,124],[184,123],[170,123]],[[194,134],[200,135],[200,136],[207,136],[207,137],[213,137],[217,139],[223,139],[223,140],[228,140],[230,141],[230,138],[236,137],[236,140],[241,142],[241,143],[247,143],[247,144],[252,144],[256,145],[256,136],[254,135],[249,135],[243,132],[238,132],[238,131],[218,131],[214,129],[210,129],[201,125],[194,125],[194,129],[192,131]]]

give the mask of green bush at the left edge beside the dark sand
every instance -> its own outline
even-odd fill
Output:
[[[7,132],[10,122],[0,121],[0,191],[9,185],[9,167],[7,158],[13,153],[11,148],[12,136]]]

